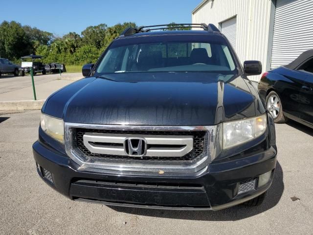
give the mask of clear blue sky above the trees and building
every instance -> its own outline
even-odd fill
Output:
[[[16,21],[63,36],[97,24],[191,23],[202,0],[14,0],[1,2],[0,23]],[[28,10],[29,9],[29,10]],[[205,22],[203,22],[205,23]]]

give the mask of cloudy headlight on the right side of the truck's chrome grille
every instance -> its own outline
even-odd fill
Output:
[[[223,149],[251,141],[267,128],[267,114],[255,118],[223,123]]]

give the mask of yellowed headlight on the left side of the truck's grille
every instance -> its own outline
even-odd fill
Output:
[[[45,114],[41,114],[40,126],[43,131],[57,141],[63,142],[64,121],[59,118],[52,118]]]

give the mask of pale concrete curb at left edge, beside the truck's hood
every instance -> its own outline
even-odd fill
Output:
[[[38,110],[43,107],[45,99],[0,101],[0,111],[11,110]]]

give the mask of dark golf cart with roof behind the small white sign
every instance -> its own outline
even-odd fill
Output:
[[[22,68],[20,75],[24,76],[25,73],[30,73],[30,68],[33,68],[34,75],[37,72],[45,74],[45,63],[43,63],[43,57],[41,55],[26,55],[21,57]]]

